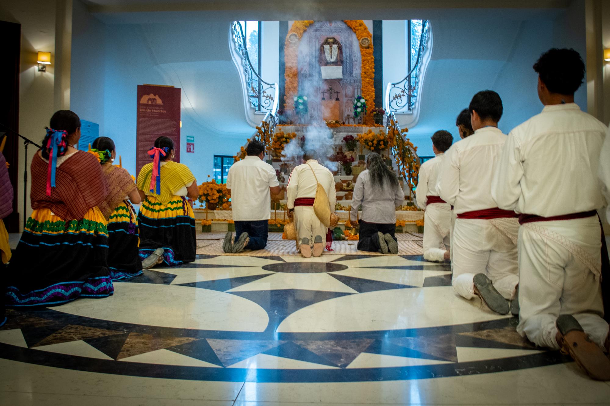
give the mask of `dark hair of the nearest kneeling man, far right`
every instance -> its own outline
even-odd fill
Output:
[[[572,95],[583,84],[584,62],[572,48],[551,48],[534,63],[534,71],[551,93]]]

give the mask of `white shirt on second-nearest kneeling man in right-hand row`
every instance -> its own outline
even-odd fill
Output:
[[[506,134],[497,127],[483,127],[445,152],[438,192],[454,213],[498,207],[491,184],[505,142]]]

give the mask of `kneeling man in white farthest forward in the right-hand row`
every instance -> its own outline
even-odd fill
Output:
[[[427,261],[443,262],[450,256],[451,205],[439,197],[437,183],[439,171],[445,160],[445,151],[451,147],[453,136],[439,130],[432,135],[434,158],[422,163],[419,171],[417,205],[425,210],[423,231],[423,258]]]

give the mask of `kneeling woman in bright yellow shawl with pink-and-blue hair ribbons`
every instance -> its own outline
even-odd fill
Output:
[[[148,154],[152,162],[142,167],[137,181],[143,199],[138,213],[142,266],[193,262],[195,215],[186,198],[199,197],[195,176],[186,165],[173,162],[174,143],[168,137],[157,138]]]

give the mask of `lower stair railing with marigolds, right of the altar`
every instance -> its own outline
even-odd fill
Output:
[[[421,166],[420,158],[417,156],[413,143],[404,137],[403,129],[398,124],[394,113],[388,112],[386,119],[388,137],[393,136],[392,155],[394,155],[398,173],[403,177],[409,188],[409,199],[411,200],[414,196],[413,189],[417,186],[417,177]]]

